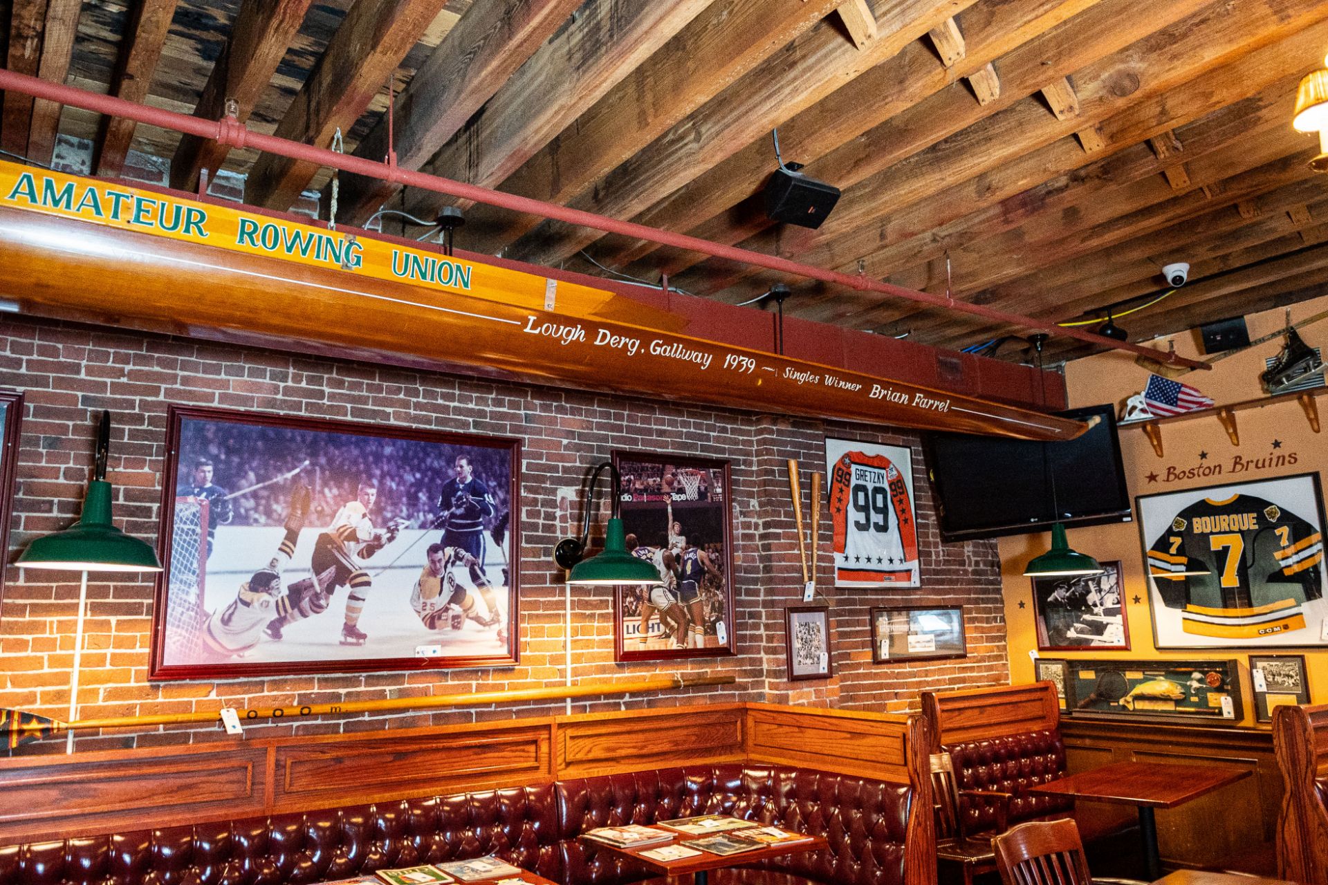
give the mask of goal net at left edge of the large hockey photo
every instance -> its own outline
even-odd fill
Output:
[[[182,495],[175,499],[175,525],[170,543],[170,585],[166,593],[166,661],[191,663],[202,653],[207,612],[207,502]]]

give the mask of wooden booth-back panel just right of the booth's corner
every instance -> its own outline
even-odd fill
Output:
[[[906,716],[748,705],[753,762],[908,783],[907,734]]]

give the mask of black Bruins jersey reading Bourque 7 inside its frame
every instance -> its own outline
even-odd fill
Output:
[[[1149,547],[1163,605],[1197,636],[1248,638],[1300,630],[1323,596],[1323,535],[1262,498],[1190,504]]]

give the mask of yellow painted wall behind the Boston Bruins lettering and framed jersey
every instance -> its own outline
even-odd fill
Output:
[[[1232,313],[1239,305],[1232,304]],[[1292,321],[1315,317],[1328,312],[1328,297],[1307,301],[1292,308]],[[1284,324],[1282,309],[1268,310],[1247,317],[1250,338],[1276,332]],[[1122,322],[1129,328],[1127,322]],[[1309,346],[1328,352],[1328,317],[1315,320],[1300,329]],[[1166,338],[1153,342],[1166,350]],[[1197,333],[1174,337],[1175,349],[1182,356],[1206,358],[1202,354]],[[1234,356],[1227,356],[1214,364],[1211,372],[1191,372],[1179,379],[1198,387],[1212,397],[1218,405],[1232,405],[1263,397],[1259,387],[1259,373],[1264,358],[1275,356],[1282,348],[1280,337],[1275,341],[1251,348]],[[1149,370],[1135,365],[1134,357],[1113,352],[1076,360],[1066,365],[1066,387],[1070,406],[1089,406],[1102,402],[1120,406],[1125,399],[1138,393],[1147,383]],[[1324,433],[1315,434],[1301,406],[1295,401],[1244,409],[1236,411],[1236,426],[1240,444],[1234,446],[1223,431],[1215,414],[1204,413],[1193,418],[1174,419],[1161,425],[1163,456],[1158,458],[1138,425],[1126,425],[1120,431],[1121,450],[1125,460],[1125,475],[1130,495],[1169,492],[1183,488],[1202,488],[1219,483],[1242,482],[1247,479],[1271,479],[1291,474],[1317,471],[1320,483],[1328,492],[1328,395],[1317,401],[1321,410]],[[1274,447],[1274,441],[1280,447]],[[1207,452],[1207,459],[1199,454]],[[1280,459],[1278,456],[1282,456]],[[1250,463],[1254,466],[1248,466]],[[1220,466],[1222,472],[1186,479],[1178,474],[1190,468]],[[1154,479],[1150,482],[1150,476]],[[1235,658],[1240,662],[1243,691],[1243,724],[1254,724],[1254,695],[1250,689],[1250,650],[1231,649],[1186,649],[1179,651],[1158,651],[1153,645],[1153,622],[1149,617],[1149,593],[1143,573],[1142,545],[1138,524],[1121,523],[1070,529],[1070,547],[1105,563],[1120,560],[1123,576],[1126,624],[1130,636],[1129,651],[1044,651],[1048,658]],[[1005,597],[1005,620],[1008,625],[1009,671],[1015,685],[1033,681],[1033,663],[1029,653],[1037,647],[1037,634],[1033,625],[1032,585],[1021,575],[1024,565],[1033,556],[1046,551],[1050,544],[1048,535],[1019,535],[1000,540],[1003,589]],[[1138,597],[1138,602],[1135,602]],[[1020,608],[1023,606],[1023,608]],[[1317,624],[1309,629],[1319,633]],[[1328,649],[1268,647],[1255,653],[1264,654],[1304,654],[1309,677],[1309,693],[1313,703],[1328,703]],[[1259,726],[1267,727],[1267,726]]]

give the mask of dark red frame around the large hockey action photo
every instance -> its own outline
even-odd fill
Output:
[[[507,478],[507,506],[509,506],[509,524],[506,529],[506,548],[513,551],[514,555],[510,559],[510,577],[507,582],[507,613],[506,613],[506,647],[502,651],[497,650],[493,654],[458,654],[448,657],[421,657],[417,653],[417,647],[402,649],[402,654],[398,657],[333,657],[328,659],[288,659],[288,661],[246,661],[243,657],[226,658],[219,657],[216,659],[190,662],[190,663],[170,663],[166,658],[166,636],[167,624],[171,618],[171,612],[169,608],[169,594],[173,575],[173,556],[177,551],[173,549],[174,535],[175,535],[175,506],[177,506],[177,490],[179,487],[179,480],[186,475],[183,471],[189,471],[189,466],[181,466],[181,442],[182,433],[185,430],[186,422],[215,422],[220,425],[238,425],[242,427],[264,427],[264,429],[288,429],[300,430],[313,434],[343,434],[351,437],[363,437],[371,439],[392,439],[392,441],[412,441],[424,443],[436,443],[440,446],[448,446],[450,450],[457,447],[469,448],[493,448],[506,452],[506,462],[510,466],[510,476]],[[226,409],[208,409],[208,407],[194,407],[194,406],[170,406],[167,413],[167,435],[166,435],[166,459],[163,468],[163,482],[162,482],[162,507],[161,507],[161,523],[158,527],[159,539],[159,555],[165,571],[158,576],[155,600],[153,606],[153,644],[151,654],[149,662],[149,678],[150,679],[223,679],[223,678],[240,678],[240,677],[262,677],[262,675],[287,675],[287,674],[308,674],[308,673],[367,673],[367,671],[381,671],[381,670],[428,670],[428,669],[453,669],[453,667],[475,667],[475,666],[513,666],[519,661],[521,651],[521,638],[518,634],[519,620],[519,585],[521,585],[521,569],[519,569],[519,551],[521,551],[521,524],[519,524],[519,502],[521,502],[521,441],[514,438],[502,437],[479,437],[474,434],[457,434],[440,430],[425,430],[418,427],[392,427],[382,425],[365,425],[357,422],[347,421],[333,421],[324,418],[304,418],[304,417],[288,417],[288,415],[275,415],[268,413],[252,413],[252,411],[235,411]],[[384,471],[390,471],[390,464],[382,466]],[[268,464],[264,468],[263,475],[270,475],[278,471],[276,464]],[[278,474],[280,475],[280,474]],[[385,474],[384,474],[385,475]],[[440,472],[440,475],[430,482],[429,488],[436,494],[444,483],[449,479],[449,475]],[[231,480],[227,480],[231,482]],[[316,483],[315,483],[316,484]],[[327,515],[321,517],[324,521],[328,519]],[[304,531],[309,528],[316,528],[319,524],[317,519],[312,519],[307,523]],[[434,529],[430,525],[414,525],[412,527],[416,532],[424,529],[424,533],[433,535]],[[402,529],[405,533],[408,529]],[[437,531],[441,537],[441,529]],[[490,529],[486,525],[485,533],[490,535]],[[426,544],[420,541],[426,540],[424,536],[417,537],[416,549],[428,549]],[[490,541],[491,543],[491,541]],[[386,553],[389,548],[382,548]],[[190,552],[194,556],[194,552]],[[207,555],[203,555],[205,561],[207,561]],[[250,557],[252,559],[252,557]],[[292,560],[292,567],[293,567]],[[371,564],[372,565],[372,564]],[[404,567],[402,567],[404,568]],[[308,569],[304,571],[308,575]],[[232,569],[228,575],[230,584],[236,586],[242,580],[247,577],[247,567],[243,572]],[[292,576],[291,580],[295,580]],[[404,576],[401,580],[410,580],[413,577]],[[328,606],[327,612],[316,614],[313,617],[319,618],[336,618],[341,609],[341,601],[348,593],[347,588],[339,588],[332,600],[332,605]],[[372,601],[372,592],[369,601]],[[368,610],[368,604],[367,604]],[[206,613],[205,613],[206,614]],[[409,617],[406,617],[409,616]],[[405,608],[404,614],[401,614],[406,622],[409,618],[416,618],[414,626],[422,628],[420,625],[418,617],[410,608]],[[328,621],[332,624],[332,621]],[[499,625],[501,626],[501,625]],[[428,641],[426,641],[428,642]],[[329,649],[337,647],[355,647],[355,646],[337,646],[329,644]],[[498,646],[501,647],[501,646]],[[215,655],[214,655],[215,657]]]

